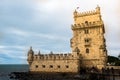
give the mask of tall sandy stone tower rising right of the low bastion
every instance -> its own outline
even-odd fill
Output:
[[[94,11],[74,11],[74,25],[71,26],[73,37],[71,39],[72,53],[79,49],[81,65],[83,67],[106,66],[107,50],[104,38],[104,23],[100,14],[100,7]]]

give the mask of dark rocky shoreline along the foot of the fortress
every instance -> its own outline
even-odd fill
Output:
[[[9,75],[13,80],[120,80],[120,74],[111,73],[30,73],[12,72]]]

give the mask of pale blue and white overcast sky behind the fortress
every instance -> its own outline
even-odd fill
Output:
[[[99,5],[109,55],[120,53],[119,0],[0,0],[0,64],[27,63],[27,52],[71,52],[73,12]]]

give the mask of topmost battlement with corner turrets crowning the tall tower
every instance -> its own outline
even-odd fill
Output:
[[[74,11],[74,18],[76,17],[83,17],[83,16],[90,16],[90,15],[95,15],[95,14],[100,14],[100,7],[97,6],[95,10],[92,11],[86,11],[86,12],[78,12]]]

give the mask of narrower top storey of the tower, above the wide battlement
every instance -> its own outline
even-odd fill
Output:
[[[95,10],[87,12],[79,12],[77,10],[73,13],[75,24],[80,24],[82,26],[88,26],[95,24],[95,22],[102,22],[100,7],[97,6]]]

